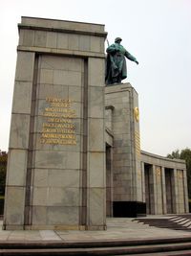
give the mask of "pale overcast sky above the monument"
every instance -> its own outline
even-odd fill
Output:
[[[1,151],[9,148],[21,16],[105,24],[109,43],[120,36],[139,62],[127,59],[123,82],[138,91],[141,150],[191,148],[191,0],[1,0]]]

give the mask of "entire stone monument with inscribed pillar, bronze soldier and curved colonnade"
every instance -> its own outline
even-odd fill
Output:
[[[22,17],[4,229],[104,230],[106,216],[188,212],[182,160],[140,151],[138,93],[104,25]],[[105,86],[105,82],[107,86]]]

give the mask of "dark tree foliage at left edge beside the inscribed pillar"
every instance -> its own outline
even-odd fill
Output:
[[[0,196],[5,195],[8,153],[0,151]]]

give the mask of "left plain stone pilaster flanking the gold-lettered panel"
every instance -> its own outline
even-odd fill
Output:
[[[24,224],[33,72],[34,53],[18,51],[4,210],[10,229],[22,229]]]

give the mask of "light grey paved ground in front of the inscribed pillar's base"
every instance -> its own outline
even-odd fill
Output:
[[[155,216],[156,217],[156,216]],[[150,216],[147,218],[155,218]],[[167,218],[157,216],[158,218]],[[157,218],[156,217],[156,218]],[[135,219],[134,219],[135,220]],[[2,221],[0,222],[2,225]],[[133,219],[110,218],[107,219],[106,231],[53,231],[53,230],[17,230],[7,231],[0,229],[1,241],[57,241],[57,242],[74,242],[74,241],[112,241],[112,240],[149,240],[165,238],[184,238],[190,237],[191,232],[182,230],[172,230],[168,228],[151,227],[146,224],[138,223]]]

